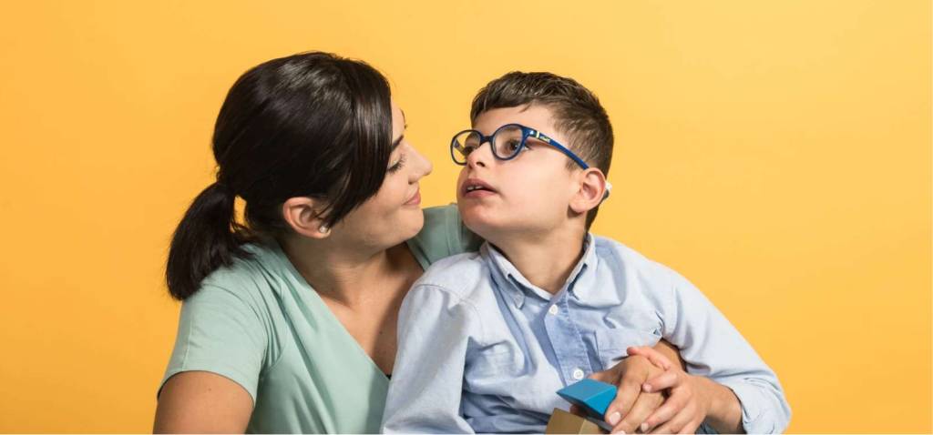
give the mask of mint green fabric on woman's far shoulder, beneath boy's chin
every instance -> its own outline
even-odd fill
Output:
[[[479,251],[482,238],[460,219],[456,204],[425,209],[425,226],[408,244],[415,259],[425,269],[441,258]]]

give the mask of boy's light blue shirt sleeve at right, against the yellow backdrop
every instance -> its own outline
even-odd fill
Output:
[[[777,375],[703,292],[674,274],[664,316],[673,321],[665,320],[664,337],[680,349],[690,374],[707,376],[735,393],[746,433],[783,432],[790,406]]]

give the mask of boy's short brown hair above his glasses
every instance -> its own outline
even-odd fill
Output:
[[[566,145],[588,165],[609,173],[612,162],[612,125],[599,99],[576,80],[550,73],[513,71],[486,84],[473,98],[470,122],[483,112],[525,104],[542,104],[551,109],[554,127],[567,136]],[[535,127],[536,126],[529,126]],[[547,132],[546,132],[547,133]],[[567,168],[576,163],[568,160]],[[589,231],[599,206],[587,214]]]

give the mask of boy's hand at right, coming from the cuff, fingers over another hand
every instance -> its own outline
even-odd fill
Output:
[[[634,356],[647,358],[652,365],[664,372],[652,375],[643,383],[642,391],[668,391],[668,398],[654,410],[638,428],[644,433],[694,433],[709,413],[711,398],[707,389],[700,385],[704,378],[684,372],[681,367],[651,347],[629,347],[629,359]],[[631,433],[631,432],[630,432]]]

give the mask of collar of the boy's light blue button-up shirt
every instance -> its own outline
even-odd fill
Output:
[[[524,299],[529,292],[546,301],[551,299],[550,292],[538,288],[528,279],[525,279],[522,272],[508,261],[505,254],[488,241],[482,244],[480,255],[493,270],[495,283],[512,300],[516,307],[522,308]],[[571,295],[584,304],[590,305],[587,299],[599,293],[594,288],[596,287],[596,268],[598,265],[599,257],[596,255],[595,239],[588,233],[583,241],[583,255],[577,265],[574,266],[573,271],[570,272],[566,282],[564,282],[564,287],[558,294],[569,291]]]

